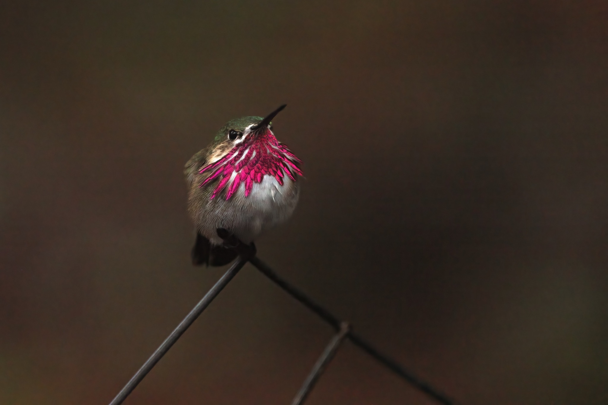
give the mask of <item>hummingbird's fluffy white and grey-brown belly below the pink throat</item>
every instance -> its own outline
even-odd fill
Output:
[[[294,212],[299,197],[299,185],[287,176],[280,185],[274,176],[264,175],[261,183],[254,183],[245,197],[245,184],[225,200],[222,195],[207,202],[199,216],[201,234],[214,245],[223,242],[217,228],[226,228],[245,243],[250,243],[263,231],[285,222]]]

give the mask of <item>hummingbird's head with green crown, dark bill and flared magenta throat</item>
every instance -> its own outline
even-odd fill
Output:
[[[295,181],[295,175],[302,175],[300,159],[280,143],[272,132],[272,118],[285,108],[278,107],[265,118],[241,117],[228,121],[215,135],[213,146],[206,159],[206,165],[199,173],[210,171],[209,177],[200,187],[219,180],[211,198],[214,198],[229,182],[226,199],[237,191],[240,183],[245,183],[245,196],[254,183],[261,183],[264,176],[274,177],[283,185],[283,175]]]

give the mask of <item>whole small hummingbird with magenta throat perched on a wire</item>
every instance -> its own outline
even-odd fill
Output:
[[[238,253],[227,235],[253,243],[294,212],[302,161],[277,140],[271,122],[285,107],[265,118],[228,121],[186,163],[188,214],[196,227],[194,265],[228,264]]]

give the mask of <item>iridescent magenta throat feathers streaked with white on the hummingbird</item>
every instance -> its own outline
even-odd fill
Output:
[[[302,161],[266,129],[261,134],[247,135],[241,143],[230,149],[226,156],[201,168],[199,173],[212,171],[212,174],[199,187],[219,178],[219,183],[211,195],[213,199],[232,180],[226,192],[228,200],[244,182],[247,197],[254,183],[261,183],[264,175],[273,176],[280,185],[283,185],[284,175],[295,181],[295,175],[302,175],[298,163]]]

